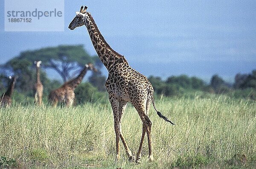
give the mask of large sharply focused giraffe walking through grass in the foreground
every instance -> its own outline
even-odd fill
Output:
[[[76,12],[76,17],[71,21],[69,29],[85,25],[87,27],[90,39],[104,66],[108,69],[108,78],[105,87],[108,91],[109,101],[113,110],[114,129],[116,133],[116,159],[120,158],[119,139],[125,147],[126,155],[130,161],[135,160],[131,150],[128,148],[127,142],[122,135],[121,121],[127,103],[130,101],[137,110],[142,120],[142,137],[140,146],[136,155],[136,163],[140,163],[142,154],[142,145],[145,133],[148,137],[148,160],[152,161],[152,139],[151,139],[151,121],[148,118],[148,112],[153,103],[154,109],[157,111],[154,103],[154,89],[148,79],[131,68],[124,56],[114,51],[105,41],[102,34],[93,20],[92,15],[86,11],[87,6],[81,6],[80,11]],[[172,123],[168,118],[157,111],[157,115],[164,120]],[[172,123],[174,125],[174,123]]]

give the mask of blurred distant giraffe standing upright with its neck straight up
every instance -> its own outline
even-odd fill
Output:
[[[40,66],[42,61],[35,61],[36,65],[36,83],[34,86],[34,103],[41,106],[44,86],[40,80]]]

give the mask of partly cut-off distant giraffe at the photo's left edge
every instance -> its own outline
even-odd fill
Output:
[[[8,106],[11,106],[12,104],[12,93],[15,87],[17,76],[13,76],[13,77],[9,76],[9,78],[11,79],[11,83],[7,91],[3,93],[3,95],[0,97],[0,107],[2,106],[8,107]]]

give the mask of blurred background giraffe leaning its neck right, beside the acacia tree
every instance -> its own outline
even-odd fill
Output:
[[[88,70],[95,72],[97,71],[93,64],[86,64],[84,66],[84,69],[76,78],[65,82],[60,88],[50,92],[48,97],[49,103],[52,103],[53,106],[57,106],[58,102],[65,102],[66,106],[72,106],[75,99],[74,90],[79,85],[79,83],[81,83],[84,75],[87,73]]]

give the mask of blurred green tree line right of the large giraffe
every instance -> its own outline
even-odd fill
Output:
[[[209,84],[198,77],[185,74],[170,76],[166,80],[150,76],[148,80],[158,95],[180,96],[191,91],[202,91],[256,100],[256,69],[249,74],[236,74],[233,84],[225,82],[218,74],[211,77]]]

